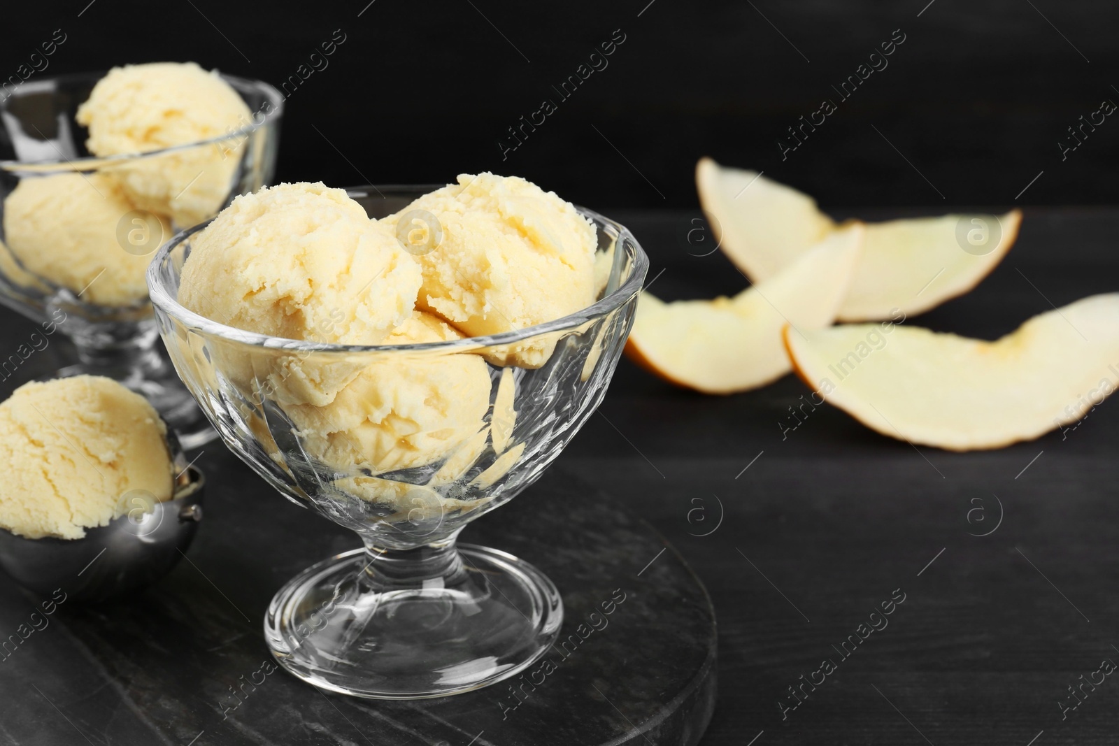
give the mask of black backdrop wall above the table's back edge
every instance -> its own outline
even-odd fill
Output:
[[[1043,170],[1018,204],[1113,201],[1119,124],[1064,161],[1057,147],[1119,102],[1119,7],[1103,0],[88,2],[9,8],[0,78],[62,28],[44,75],[196,60],[279,86],[341,29],[329,66],[288,98],[283,180],[489,169],[601,209],[687,208],[708,154],[826,208],[1008,205]],[[552,86],[614,29],[626,41],[609,66],[561,101]],[[839,103],[831,86],[894,29],[905,41],[888,67]],[[557,111],[502,160],[499,139],[544,97]],[[778,140],[825,97],[838,111],[782,161]]]

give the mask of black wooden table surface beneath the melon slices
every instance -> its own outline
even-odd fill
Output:
[[[649,281],[661,298],[745,284],[717,253],[693,255],[702,252],[681,237],[696,215],[613,215],[649,252]],[[990,277],[909,323],[993,339],[1053,305],[1113,291],[1117,233],[1119,211],[1027,210],[1018,244]],[[13,314],[4,319],[0,350],[32,330]],[[57,367],[66,351],[51,341],[3,385]],[[720,625],[720,692],[702,743],[1116,743],[1119,678],[1100,671],[1119,663],[1119,416],[1111,412],[1119,400],[1074,431],[953,454],[916,452],[827,406],[782,432],[805,391],[788,377],[760,391],[705,397],[623,361],[600,413],[557,462],[650,521],[706,584]],[[199,464],[228,489],[267,489],[220,445]],[[297,510],[278,498],[273,504],[276,521]],[[243,531],[266,530],[270,520]],[[199,566],[236,564],[237,546],[199,537],[190,553]],[[266,603],[272,578],[258,580]],[[883,603],[892,613],[872,616]],[[880,629],[868,631],[872,624]],[[853,635],[865,640],[856,646]],[[98,674],[51,651],[29,645],[20,654],[55,677],[81,671],[75,686],[87,687],[88,698],[144,720],[144,705],[122,698],[120,683],[143,671],[122,664]],[[29,696],[3,667],[0,725],[3,710],[27,707]],[[152,706],[173,710],[152,686]],[[304,733],[320,728],[326,738],[335,726],[338,743],[365,743],[345,724],[307,724]],[[57,743],[83,743],[59,734]],[[291,743],[304,743],[299,731]]]

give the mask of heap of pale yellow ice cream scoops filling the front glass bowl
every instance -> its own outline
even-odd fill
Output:
[[[434,516],[483,503],[489,498],[476,492],[524,453],[513,442],[515,376],[502,372],[491,405],[487,360],[539,367],[555,340],[471,351],[391,346],[523,329],[591,305],[596,245],[594,226],[571,204],[518,178],[462,176],[379,221],[341,190],[281,185],[238,197],[198,234],[179,302],[273,337],[386,346],[295,351],[229,342],[208,343],[207,353],[222,357],[217,367],[238,385],[256,381],[291,421],[273,440],[260,432],[264,415],[253,413],[270,455],[280,460],[276,443],[294,433],[307,455],[336,471],[336,489],[388,506],[391,520]],[[489,451],[495,462],[453,492]],[[419,474],[423,485],[389,473],[420,468],[431,470]]]

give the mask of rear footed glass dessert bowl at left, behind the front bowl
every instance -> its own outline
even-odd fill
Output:
[[[223,75],[252,112],[241,126],[98,158],[75,116],[102,77],[36,78],[0,103],[0,302],[74,342],[76,363],[55,376],[119,380],[194,448],[216,434],[157,344],[144,266],[173,230],[271,180],[283,96],[266,83]],[[135,199],[135,189],[162,192],[176,207],[167,215],[143,209],[151,205]],[[19,362],[0,365],[10,375]]]

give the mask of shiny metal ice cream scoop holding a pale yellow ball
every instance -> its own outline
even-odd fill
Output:
[[[28,539],[0,529],[0,567],[44,595],[62,588],[68,598],[103,601],[167,575],[190,546],[203,518],[201,471],[187,466],[170,500],[125,494],[128,512],[82,539]]]

